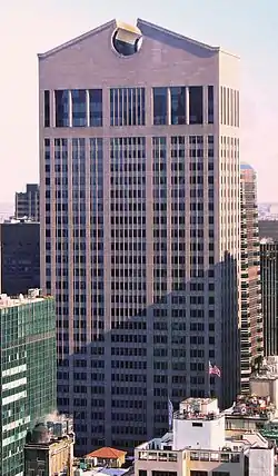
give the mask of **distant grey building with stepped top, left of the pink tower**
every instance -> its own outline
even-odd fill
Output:
[[[14,217],[40,221],[40,188],[38,184],[27,184],[26,191],[16,192]]]

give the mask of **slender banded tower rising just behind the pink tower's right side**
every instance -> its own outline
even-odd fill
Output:
[[[264,325],[260,288],[257,176],[240,166],[241,185],[241,393],[249,394],[249,378],[264,355]]]

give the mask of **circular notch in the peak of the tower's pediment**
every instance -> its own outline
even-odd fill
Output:
[[[130,57],[140,51],[142,33],[137,27],[117,22],[112,34],[112,47],[121,57]]]

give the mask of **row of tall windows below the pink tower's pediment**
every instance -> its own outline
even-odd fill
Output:
[[[110,126],[146,126],[146,89],[110,89]],[[152,88],[155,126],[215,121],[214,86]],[[102,127],[102,89],[44,90],[44,127]],[[239,126],[239,93],[221,87],[221,123]]]

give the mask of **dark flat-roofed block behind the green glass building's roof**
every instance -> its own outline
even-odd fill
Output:
[[[40,287],[40,224],[9,220],[0,225],[1,292],[27,294]]]

